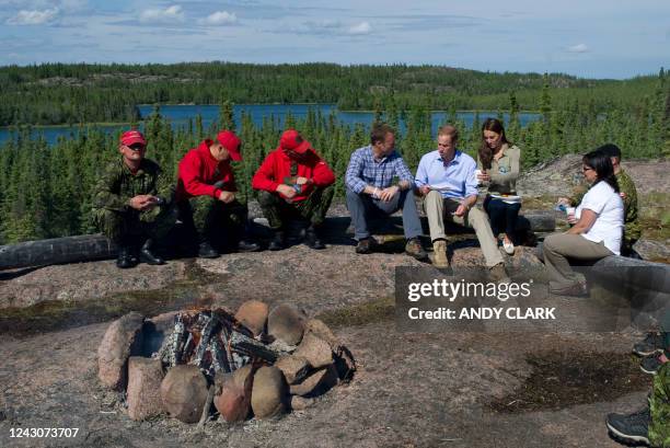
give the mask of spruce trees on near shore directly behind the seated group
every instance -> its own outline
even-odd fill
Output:
[[[578,96],[557,107],[545,77],[536,99],[542,119],[522,127],[520,102],[513,92],[507,95],[499,114],[500,117],[504,112],[510,115],[507,135],[521,148],[523,169],[565,153],[584,153],[610,141],[622,148],[625,158],[668,157],[670,85],[662,71],[655,80],[652,92],[635,110],[612,106],[602,112]],[[293,127],[334,169],[336,196],[344,197],[344,173],[349,157],[356,148],[369,143],[369,129],[339,123],[334,113],[323,115],[314,110],[302,119],[289,114],[284,126],[275,117],[265,117],[256,126],[247,114],[235,123],[232,102],[224,97],[220,105],[219,120],[208,129],[203,127],[199,116],[187,127],[173,129],[155,107],[143,123],[135,124],[148,139],[147,157],[172,173],[176,182],[177,163],[188,149],[219,129],[235,130],[242,138],[244,157],[234,164],[239,196],[249,200],[254,197],[251,177],[265,156],[276,148],[284,128]],[[435,149],[431,107],[418,102],[404,108],[395,101],[377,101],[373,108],[377,122],[386,122],[396,129],[401,128],[401,120],[404,123],[396,148],[415,171],[420,157]],[[476,113],[474,125],[466,127],[458,119],[455,107],[448,112],[447,122],[460,131],[459,147],[471,156],[476,154],[481,123],[486,117]],[[92,189],[105,164],[118,157],[118,133],[107,135],[82,125],[76,137],[61,137],[48,146],[42,137],[31,137],[30,126],[18,127],[14,137],[0,147],[0,243],[95,231],[90,219]]]

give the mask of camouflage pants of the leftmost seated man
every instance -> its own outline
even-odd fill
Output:
[[[93,223],[117,244],[142,237],[160,240],[170,232],[175,221],[174,207],[154,207],[147,211],[93,209]]]

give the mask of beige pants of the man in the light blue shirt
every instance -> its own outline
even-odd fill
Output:
[[[503,255],[498,250],[496,239],[490,230],[490,222],[486,214],[478,208],[472,208],[464,216],[454,216],[453,212],[459,208],[461,203],[458,199],[443,198],[439,192],[431,191],[426,195],[424,208],[428,216],[428,225],[430,226],[430,240],[447,239],[444,233],[444,220],[448,219],[459,226],[464,226],[474,229],[486,266],[493,267],[496,264],[503,263]]]

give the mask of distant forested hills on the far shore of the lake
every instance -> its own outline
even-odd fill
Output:
[[[132,122],[137,104],[333,103],[340,110],[497,110],[515,92],[540,110],[548,87],[556,108],[577,99],[602,113],[638,111],[656,77],[587,80],[562,73],[482,72],[441,66],[334,64],[43,64],[0,67],[0,126]]]

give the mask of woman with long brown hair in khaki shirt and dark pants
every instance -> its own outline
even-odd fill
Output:
[[[515,253],[515,229],[521,209],[521,203],[516,197],[520,157],[519,148],[505,137],[503,123],[487,118],[482,126],[482,146],[477,157],[481,173],[477,180],[488,185],[484,210],[490,220],[494,237],[497,239],[505,231],[503,249],[509,255]]]

